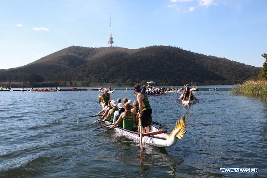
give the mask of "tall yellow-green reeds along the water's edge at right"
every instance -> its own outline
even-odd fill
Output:
[[[231,93],[259,96],[264,101],[267,101],[267,80],[247,81],[242,85],[233,85]]]

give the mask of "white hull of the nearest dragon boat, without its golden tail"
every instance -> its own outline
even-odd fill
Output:
[[[111,122],[106,121],[105,124],[111,124]],[[109,127],[111,127],[111,125]],[[138,132],[129,131],[129,130],[119,128],[119,127],[114,128],[113,130],[115,130],[120,135],[127,136],[131,139],[134,139],[134,140],[140,142]],[[161,130],[159,128],[157,128],[155,125],[150,124],[150,132],[155,132],[155,131],[161,131]],[[150,145],[153,145],[156,147],[169,147],[167,145],[167,141],[166,141],[168,137],[169,137],[169,134],[163,133],[163,134],[157,134],[157,135],[153,135],[153,136],[144,136],[142,141],[144,143],[147,143],[147,144],[150,144]],[[177,141],[177,139],[175,140],[175,143],[176,143],[176,141]]]

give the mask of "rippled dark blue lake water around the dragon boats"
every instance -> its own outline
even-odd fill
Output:
[[[266,177],[266,103],[214,87],[200,86],[190,107],[172,101],[178,92],[149,97],[153,120],[174,128],[185,115],[187,133],[172,147],[144,144],[143,164],[136,141],[94,136],[96,117],[77,123],[101,110],[98,91],[0,92],[0,177]],[[111,99],[136,100],[129,89]],[[259,172],[220,172],[228,167]]]

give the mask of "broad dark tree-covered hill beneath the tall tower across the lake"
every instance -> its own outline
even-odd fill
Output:
[[[188,82],[230,85],[258,75],[260,69],[171,46],[139,49],[71,46],[26,66],[1,69],[0,81],[27,81],[27,76],[35,73],[45,81],[125,83],[128,80],[135,83],[153,80],[166,85]]]

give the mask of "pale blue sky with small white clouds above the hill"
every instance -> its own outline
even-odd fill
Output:
[[[261,67],[267,1],[1,1],[0,69],[72,45],[171,45]]]

